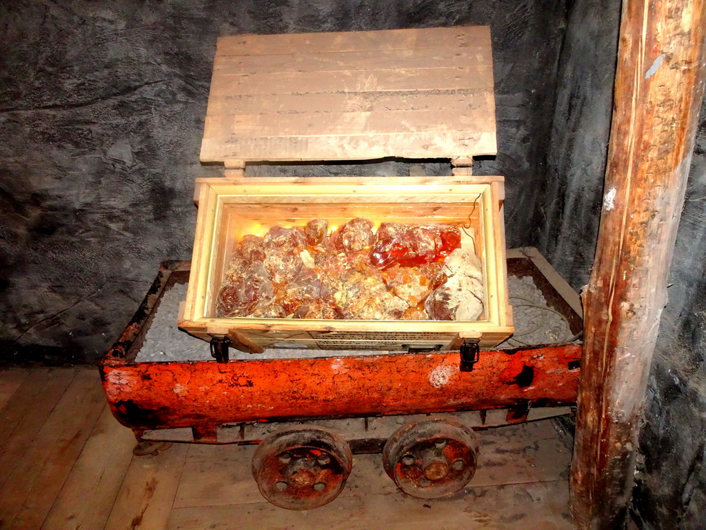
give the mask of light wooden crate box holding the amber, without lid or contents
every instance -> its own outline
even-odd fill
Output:
[[[513,333],[508,302],[503,177],[198,179],[191,278],[179,327],[194,336],[236,331],[264,348],[402,351],[457,349],[468,339],[495,346]],[[322,215],[322,213],[324,213]],[[474,216],[474,214],[476,214]],[[367,216],[403,223],[468,223],[484,276],[484,319],[477,322],[216,318],[215,298],[234,241],[257,225],[303,225],[316,217]],[[393,217],[390,217],[393,216]]]

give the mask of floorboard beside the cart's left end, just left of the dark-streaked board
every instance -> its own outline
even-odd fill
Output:
[[[133,432],[120,425],[110,408],[104,406],[42,530],[103,529],[132,460],[134,445]]]

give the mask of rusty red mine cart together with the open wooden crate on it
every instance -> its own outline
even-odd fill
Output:
[[[261,493],[301,510],[340,493],[354,452],[439,497],[472,478],[474,430],[570,413],[578,297],[535,249],[506,255],[503,177],[470,170],[495,153],[489,28],[222,37],[201,160],[225,175],[197,179],[192,261],[162,266],[101,363],[136,451],[258,443]],[[390,157],[453,171],[305,164]],[[277,162],[300,171],[247,174]],[[527,346],[547,319],[514,330],[513,298],[563,331]]]

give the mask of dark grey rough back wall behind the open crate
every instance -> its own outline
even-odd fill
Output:
[[[492,28],[510,246],[536,239],[563,1],[29,0],[0,4],[0,360],[92,361],[162,259],[189,259],[219,35]],[[291,168],[257,167],[258,175]],[[301,167],[297,168],[301,170]],[[431,172],[448,166],[430,164]],[[402,175],[388,162],[310,174]]]

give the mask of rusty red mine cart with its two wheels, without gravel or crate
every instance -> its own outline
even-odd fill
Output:
[[[454,351],[138,362],[162,296],[189,281],[189,266],[162,264],[100,363],[109,406],[135,433],[136,454],[164,442],[260,444],[253,476],[263,496],[309,510],[344,488],[352,452],[383,452],[401,490],[437,497],[472,478],[479,452],[473,430],[572,413],[577,343],[480,351],[470,371],[460,369]],[[508,251],[508,272],[531,276],[580,334],[578,296],[536,249]]]

